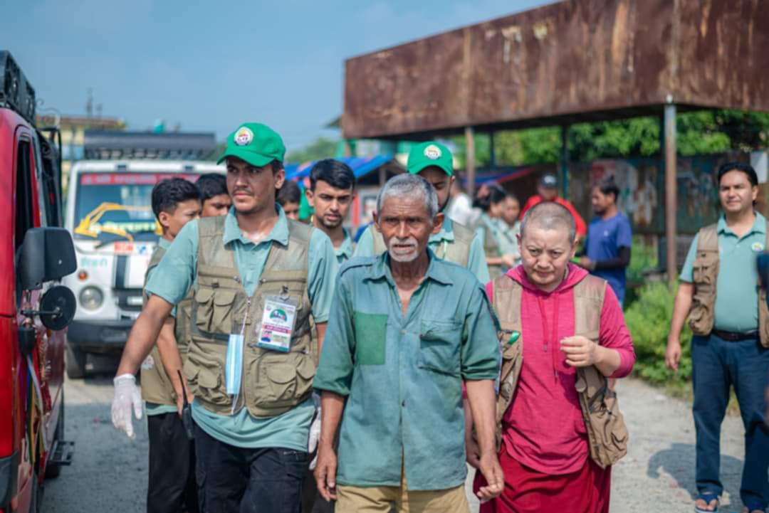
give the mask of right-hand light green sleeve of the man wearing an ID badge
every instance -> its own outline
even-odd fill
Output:
[[[312,316],[316,323],[325,323],[331,310],[339,264],[331,239],[321,230],[312,230],[309,252],[307,293],[312,303]]]

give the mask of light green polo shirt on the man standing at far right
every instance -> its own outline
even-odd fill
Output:
[[[718,220],[718,279],[714,328],[735,333],[758,329],[758,271],[756,257],[764,251],[767,221],[760,213],[750,231],[737,237],[727,226],[724,215]],[[694,258],[699,234],[689,247],[681,281],[694,281]]]

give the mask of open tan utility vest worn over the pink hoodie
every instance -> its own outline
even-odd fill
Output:
[[[598,341],[606,282],[585,276],[574,286],[574,335]],[[513,402],[523,365],[524,333],[521,330],[523,287],[509,276],[494,280],[494,311],[501,326],[502,369],[497,396],[497,446],[501,446],[502,419]],[[519,333],[508,343],[512,333]],[[619,410],[617,394],[594,366],[577,369],[576,389],[588,431],[590,456],[601,468],[614,465],[628,452],[628,429]]]

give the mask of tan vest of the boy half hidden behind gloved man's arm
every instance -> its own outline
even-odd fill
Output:
[[[145,286],[147,284],[147,276],[149,272],[158,266],[165,250],[161,247],[155,247],[155,252],[152,253],[152,257],[149,260],[147,266],[147,272],[145,273]],[[146,305],[149,299],[147,293],[143,294],[143,303]],[[189,311],[192,304],[192,291],[188,293],[184,300],[176,305],[176,319],[174,335],[176,337],[176,345],[179,348],[179,355],[181,356],[181,362],[185,362],[187,357],[187,349],[189,346]],[[155,402],[160,405],[176,405],[176,392],[174,386],[171,383],[171,379],[168,379],[168,374],[165,372],[165,367],[160,359],[160,350],[158,345],[152,346],[152,350],[149,353],[149,362],[151,365],[141,366],[141,399],[148,402]]]

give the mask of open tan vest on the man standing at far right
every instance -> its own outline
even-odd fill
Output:
[[[769,223],[767,241],[769,247]],[[694,335],[708,336],[715,324],[716,283],[718,281],[718,225],[711,224],[700,230],[697,237],[697,256],[694,257],[694,295],[691,298],[689,326]],[[769,347],[769,308],[767,291],[758,291],[758,333],[761,345]]]

